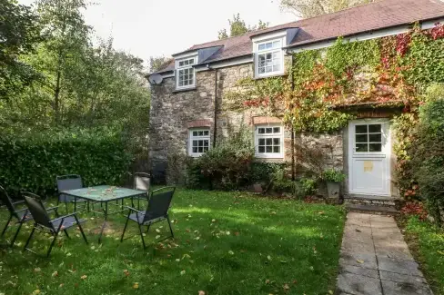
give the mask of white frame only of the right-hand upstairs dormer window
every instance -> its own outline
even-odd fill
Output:
[[[278,47],[272,47],[268,49],[259,49],[259,47],[262,47],[264,44],[273,44],[276,42],[280,42],[280,46]],[[278,38],[272,38],[267,40],[260,40],[255,42],[253,46],[253,52],[255,53],[255,77],[262,78],[262,77],[268,77],[268,76],[274,76],[279,74],[284,74],[284,56],[285,52],[282,50],[282,48],[285,46],[286,42],[286,36],[280,36]],[[273,71],[269,73],[262,73],[259,74],[259,55],[261,54],[278,54],[280,63],[279,63],[279,70]]]

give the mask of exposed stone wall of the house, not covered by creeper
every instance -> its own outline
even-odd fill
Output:
[[[288,63],[288,62],[287,62]],[[247,110],[244,113],[227,111],[224,108],[225,93],[240,90],[237,81],[252,77],[253,64],[241,64],[217,69],[217,141],[227,137],[230,130],[237,130],[244,124],[255,130],[255,124],[279,123],[276,117],[267,116],[258,110]],[[152,103],[150,111],[150,167],[157,180],[173,178],[177,180],[179,158],[187,155],[189,128],[206,126],[210,128],[211,145],[214,144],[215,126],[215,71],[197,72],[197,86],[187,91],[176,91],[175,79],[166,78],[160,85],[152,87]],[[253,138],[251,139],[254,140]],[[298,171],[303,172],[320,165],[322,168],[335,167],[342,169],[342,133],[336,134],[299,134],[295,138],[295,149]],[[300,147],[305,147],[302,151]],[[261,161],[291,161],[291,132],[284,133],[284,159],[267,159]],[[304,152],[318,151],[323,154],[317,163],[304,162]],[[168,169],[169,166],[169,169]],[[319,166],[320,167],[320,166]],[[171,172],[171,169],[175,172]],[[166,171],[169,171],[166,173]],[[168,175],[166,175],[168,174]],[[172,175],[175,175],[174,177]],[[167,180],[168,181],[168,180]]]

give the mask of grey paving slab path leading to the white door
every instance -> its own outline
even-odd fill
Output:
[[[393,217],[348,212],[339,258],[340,295],[432,295]]]

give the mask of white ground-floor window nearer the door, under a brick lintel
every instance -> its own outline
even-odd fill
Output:
[[[284,128],[280,124],[257,125],[255,128],[257,158],[284,157]]]

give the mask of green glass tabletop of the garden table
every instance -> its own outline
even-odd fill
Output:
[[[111,185],[64,191],[67,195],[96,202],[107,202],[146,194],[144,191],[131,190]]]

